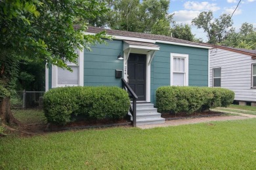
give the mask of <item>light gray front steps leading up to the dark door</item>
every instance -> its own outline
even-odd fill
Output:
[[[163,124],[165,118],[161,118],[161,114],[158,109],[154,108],[152,103],[137,103],[137,125],[146,125],[146,124]],[[129,113],[130,114],[130,113]],[[130,114],[131,116],[131,114]],[[133,121],[133,116],[131,116]]]

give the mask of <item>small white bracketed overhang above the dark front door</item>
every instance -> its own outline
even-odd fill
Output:
[[[150,54],[150,61],[148,65],[150,65],[152,59],[155,56],[156,51],[160,50],[160,46],[150,43],[150,42],[139,42],[139,41],[123,41],[123,52],[127,53],[127,59],[125,63],[127,63],[129,54],[133,53],[144,53]]]

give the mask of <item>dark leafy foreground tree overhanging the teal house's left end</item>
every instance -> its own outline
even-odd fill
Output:
[[[1,86],[9,88],[15,71],[7,65],[15,64],[18,58],[68,68],[66,61],[77,61],[77,48],[83,46],[90,50],[90,44],[104,42],[102,37],[108,38],[104,33],[85,35],[86,25],[75,29],[74,20],[94,18],[106,11],[106,7],[96,0],[0,1]],[[0,100],[1,120],[11,123],[9,99]]]

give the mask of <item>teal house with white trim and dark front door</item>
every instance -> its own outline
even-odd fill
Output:
[[[79,51],[73,72],[51,67],[46,90],[60,86],[119,86],[124,78],[138,101],[155,103],[160,86],[209,86],[211,46],[163,35],[89,27],[87,34],[106,30],[113,40]]]

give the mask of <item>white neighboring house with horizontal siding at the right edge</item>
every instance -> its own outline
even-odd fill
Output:
[[[209,71],[211,87],[232,90],[240,105],[256,106],[256,50],[214,46]]]

